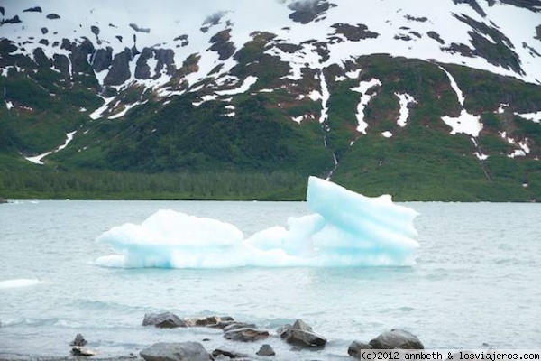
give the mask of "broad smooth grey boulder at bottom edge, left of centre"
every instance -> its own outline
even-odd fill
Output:
[[[140,352],[145,361],[209,361],[212,356],[198,342],[159,342]]]

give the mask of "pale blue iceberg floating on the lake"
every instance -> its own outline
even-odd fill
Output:
[[[327,180],[308,179],[307,216],[290,217],[244,238],[232,224],[160,210],[141,225],[113,227],[96,239],[117,254],[105,267],[355,267],[415,264],[417,212],[389,195],[365,197]]]

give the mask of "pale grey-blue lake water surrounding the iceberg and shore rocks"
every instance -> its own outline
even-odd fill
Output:
[[[406,203],[420,213],[412,267],[110,269],[95,239],[159,209],[217,218],[245,236],[308,213],[304,202],[22,201],[0,207],[0,356],[68,356],[77,333],[100,356],[193,340],[275,359],[348,359],[353,340],[401,328],[427,348],[541,348],[541,208],[536,204]],[[20,287],[15,287],[19,285]],[[234,343],[216,329],[142,327],[146,312],[227,315],[269,329]],[[304,319],[328,339],[298,354],[276,329]],[[203,339],[208,339],[203,341]],[[303,355],[303,356],[299,356]],[[304,357],[304,358],[303,358]]]

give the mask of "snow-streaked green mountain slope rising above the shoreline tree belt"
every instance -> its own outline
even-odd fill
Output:
[[[286,171],[539,198],[541,2],[200,3],[2,5],[6,176]]]

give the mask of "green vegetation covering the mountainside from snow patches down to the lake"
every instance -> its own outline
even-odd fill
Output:
[[[258,78],[250,92],[193,103],[202,94],[168,99],[143,88],[97,89],[91,69],[74,79],[12,56],[0,42],[0,77],[5,101],[0,106],[0,196],[5,199],[305,199],[307,177],[326,177],[338,160],[333,180],[369,196],[388,193],[396,200],[529,201],[541,199],[541,125],[514,113],[539,110],[539,87],[458,65],[445,65],[466,97],[466,109],[481,116],[484,127],[472,142],[451,135],[442,116],[458,116],[461,106],[438,64],[387,55],[359,57],[348,70],[360,79],[344,79],[344,69],[324,69],[331,93],[328,129],[319,124],[319,74],[303,69],[303,79],[284,79],[289,65],[264,54],[270,33],[256,33],[236,52],[232,75]],[[14,67],[17,64],[18,67]],[[82,64],[84,65],[84,64]],[[195,71],[197,56],[185,61],[171,84],[183,88],[183,74]],[[359,81],[381,80],[371,89],[364,110],[367,134],[357,127]],[[212,80],[202,79],[201,84]],[[272,92],[259,92],[272,88]],[[204,88],[205,89],[205,88]],[[101,106],[97,96],[119,104],[147,100],[118,119],[92,120]],[[399,97],[408,93],[408,125],[397,124]],[[302,96],[302,97],[301,97]],[[504,112],[496,112],[509,104]],[[226,116],[234,106],[234,117]],[[120,109],[120,108],[118,108]],[[300,124],[291,117],[307,116]],[[43,166],[23,156],[69,147],[46,158]],[[389,131],[386,138],[381,132]],[[505,133],[505,136],[502,134]],[[326,145],[324,145],[324,139]],[[509,139],[516,143],[512,144]],[[509,157],[527,144],[525,156]],[[481,161],[475,153],[489,157]]]

